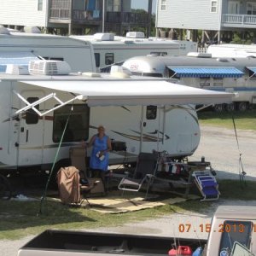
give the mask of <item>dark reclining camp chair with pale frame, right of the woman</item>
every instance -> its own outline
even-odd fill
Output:
[[[157,166],[157,154],[140,153],[137,157],[137,166],[133,177],[123,177],[119,183],[119,189],[128,191],[139,191],[143,183],[147,180],[150,183],[151,177],[154,175]],[[148,184],[149,187],[149,184]],[[148,189],[146,198],[148,195]]]

